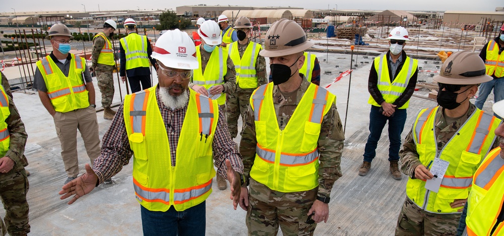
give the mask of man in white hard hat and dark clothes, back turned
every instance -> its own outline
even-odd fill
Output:
[[[121,80],[130,84],[131,92],[136,93],[140,90],[148,89],[151,85],[151,64],[156,64],[156,60],[151,57],[151,41],[147,36],[137,34],[137,23],[128,18],[124,21],[124,28],[128,36],[121,38],[120,42],[120,71]],[[150,61],[150,64],[149,64]],[[142,84],[142,87],[140,87]]]

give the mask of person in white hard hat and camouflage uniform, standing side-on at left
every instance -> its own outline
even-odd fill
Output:
[[[92,65],[90,72],[96,71],[98,88],[101,92],[101,106],[103,107],[103,119],[112,120],[115,111],[110,108],[114,98],[115,69],[114,49],[110,39],[117,29],[115,21],[108,19],[103,24],[103,30],[93,37],[93,51],[91,52]]]

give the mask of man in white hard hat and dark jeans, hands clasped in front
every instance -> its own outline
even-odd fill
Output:
[[[401,133],[406,123],[406,108],[413,95],[418,76],[418,60],[406,55],[403,50],[409,41],[408,31],[399,26],[390,31],[389,51],[374,58],[369,71],[368,90],[371,111],[369,113],[369,137],[364,147],[364,160],[359,175],[364,176],[371,169],[371,161],[376,156],[376,146],[387,122],[389,123],[389,170],[392,178],[401,180],[399,170],[399,150]]]

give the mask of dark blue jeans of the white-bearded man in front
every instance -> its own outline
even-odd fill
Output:
[[[140,206],[144,235],[205,235],[206,209],[202,202],[185,211],[171,206],[167,211],[149,211]]]

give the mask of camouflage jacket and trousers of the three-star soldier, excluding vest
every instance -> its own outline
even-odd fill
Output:
[[[302,76],[302,75],[300,75]],[[291,93],[282,94],[273,87],[273,103],[280,130],[283,130],[310,82],[303,78],[301,86]],[[276,137],[274,137],[276,138]],[[249,235],[276,235],[278,225],[287,235],[310,235],[316,224],[306,224],[307,212],[317,195],[329,197],[334,182],[341,177],[343,127],[336,109],[336,101],[324,116],[319,136],[319,186],[309,191],[282,193],[250,179],[249,205],[246,224]],[[240,153],[243,156],[243,174],[249,176],[256,157],[256,128],[254,111],[248,106],[243,122]],[[276,213],[275,213],[276,212]]]

